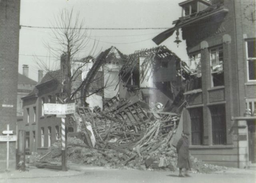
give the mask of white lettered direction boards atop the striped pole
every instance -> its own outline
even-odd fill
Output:
[[[44,114],[70,114],[76,112],[75,103],[59,104],[59,103],[45,103]]]

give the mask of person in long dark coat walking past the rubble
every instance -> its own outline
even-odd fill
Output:
[[[185,176],[189,177],[188,170],[191,170],[191,162],[189,159],[189,133],[182,133],[182,137],[177,143],[176,150],[178,154],[178,168],[179,177],[184,177],[182,175],[182,168],[186,169]]]

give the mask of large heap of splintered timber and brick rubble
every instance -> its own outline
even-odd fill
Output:
[[[141,108],[138,99],[104,112],[86,112],[84,108],[78,111],[83,138],[68,136],[68,161],[140,170],[177,169],[177,154],[172,146],[179,122],[177,114]],[[49,148],[44,160],[61,161],[61,142]],[[194,157],[191,161],[193,172],[223,170]]]

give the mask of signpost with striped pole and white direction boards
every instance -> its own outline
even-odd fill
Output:
[[[67,171],[67,158],[66,158],[66,131],[65,131],[65,117],[66,114],[75,113],[75,103],[58,104],[58,103],[45,103],[44,114],[56,114],[56,117],[61,117],[61,165],[62,170]]]

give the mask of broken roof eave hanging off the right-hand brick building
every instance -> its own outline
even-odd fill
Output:
[[[186,17],[180,17],[179,20],[173,21],[173,24],[175,24],[174,27],[167,29],[163,33],[158,34],[156,37],[152,39],[152,41],[154,41],[157,45],[159,45],[163,43],[164,40],[172,36],[174,31],[176,31],[177,29],[189,26],[190,24],[194,24],[195,22],[204,20],[205,18],[218,15],[219,13],[227,13],[227,12],[228,12],[228,9],[225,8],[222,3],[212,4],[211,6],[209,6],[203,11],[192,13],[191,15],[188,15]]]

